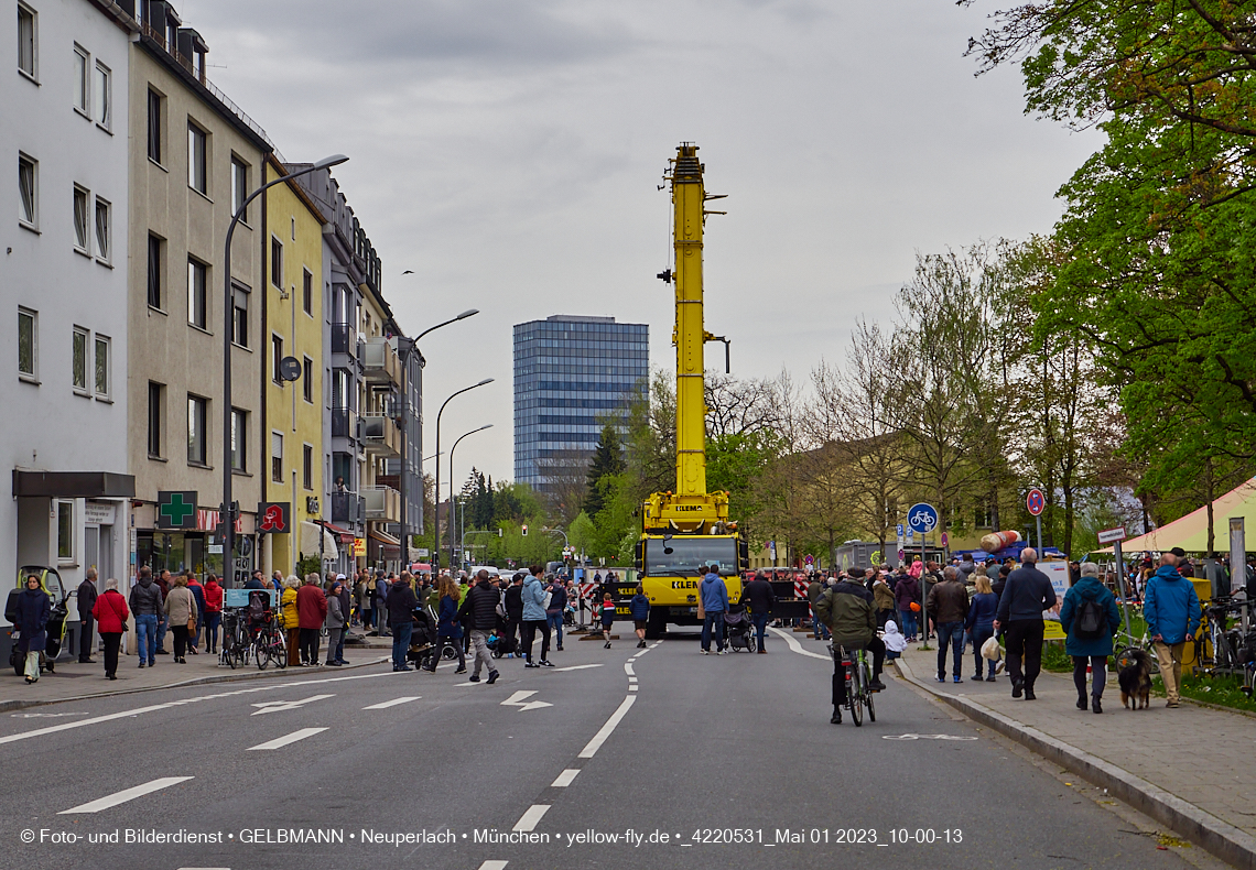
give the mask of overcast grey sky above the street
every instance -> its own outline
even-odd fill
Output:
[[[1006,0],[1002,5],[1006,5]],[[511,325],[648,323],[671,368],[669,201],[682,139],[707,191],[707,329],[734,373],[805,379],[888,319],[917,251],[1050,230],[1095,149],[1022,114],[1017,69],[962,53],[991,3],[952,0],[182,0],[210,77],[290,161],[344,152],[340,188],[425,339],[427,423],[509,480]],[[404,270],[413,275],[402,276]],[[722,348],[712,345],[711,362]],[[432,470],[432,463],[427,463]],[[447,477],[445,466],[442,477]],[[443,482],[443,481],[442,481]],[[442,487],[443,488],[443,487]]]

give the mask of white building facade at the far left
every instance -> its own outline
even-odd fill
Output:
[[[0,590],[89,567],[127,586],[128,56],[112,3],[9,0],[0,19]],[[15,177],[16,176],[16,177]],[[16,181],[16,183],[14,183]],[[74,599],[70,618],[74,619]],[[8,633],[0,634],[6,653]]]

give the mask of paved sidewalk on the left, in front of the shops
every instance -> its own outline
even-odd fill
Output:
[[[373,665],[391,654],[392,638],[364,638],[364,644],[345,644],[344,658],[349,664],[340,668],[289,667],[280,670],[270,665],[265,670],[257,670],[257,665],[249,662],[232,670],[225,664],[219,664],[216,653],[208,655],[205,652],[201,652],[200,655],[188,654],[187,664],[175,664],[173,655],[158,655],[154,667],[141,668],[138,657],[121,655],[118,658],[118,679],[107,680],[104,678],[104,653],[97,652],[93,657],[95,664],[79,664],[78,659],[72,657],[58,660],[57,670],[44,672],[34,685],[26,685],[21,677],[13,674],[13,668],[6,668],[6,675],[0,675],[0,711],[15,711],[59,701],[168,689],[180,685],[231,683],[315,672],[327,674]]]

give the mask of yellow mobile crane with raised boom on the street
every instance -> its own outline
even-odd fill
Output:
[[[703,349],[727,341],[702,325],[702,230],[710,196],[702,183],[697,146],[683,142],[666,180],[671,182],[676,266],[658,275],[676,289],[676,492],[656,492],[641,506],[642,535],[636,567],[649,599],[648,638],[668,623],[698,624],[698,572],[717,565],[728,586],[728,601],[741,599],[741,571],[750,565],[749,547],[728,520],[728,493],[706,488],[706,402]]]

